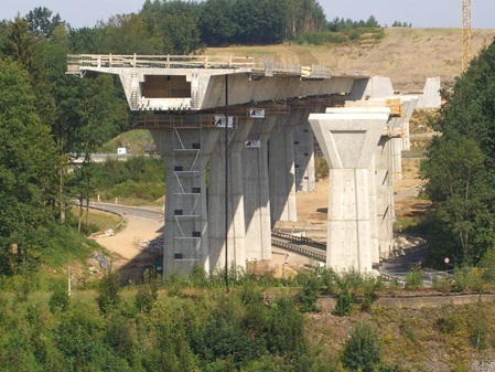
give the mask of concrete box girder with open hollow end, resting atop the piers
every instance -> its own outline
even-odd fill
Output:
[[[251,78],[249,70],[93,67],[92,73],[120,77],[131,110],[204,110],[225,106],[225,75],[229,105],[272,102],[289,97],[348,93],[355,77],[303,79],[298,75]]]

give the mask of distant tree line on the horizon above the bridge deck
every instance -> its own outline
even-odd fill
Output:
[[[316,0],[146,0],[138,13],[115,14],[80,29],[71,28],[57,13],[41,7],[22,19],[31,31],[46,39],[57,25],[64,25],[72,53],[97,54],[191,54],[207,46],[311,43],[316,39],[344,42],[380,28],[373,15],[366,21],[327,21]],[[3,26],[7,23],[4,20]],[[320,38],[311,36],[314,33]]]

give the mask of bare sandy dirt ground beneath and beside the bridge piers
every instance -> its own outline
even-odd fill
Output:
[[[417,199],[421,180],[418,179],[417,160],[405,160],[403,179],[395,180],[395,210],[398,217],[421,212],[424,203]],[[329,181],[316,182],[316,188],[310,193],[298,193],[298,222],[278,223],[282,227],[294,227],[305,231],[306,236],[314,240],[326,240],[326,209],[329,202]],[[129,279],[139,281],[146,268],[161,261],[161,252],[157,244],[149,244],[160,238],[163,222],[138,216],[126,216],[125,226],[114,236],[101,235],[97,242],[111,254],[112,266],[120,269],[122,283]],[[269,269],[278,276],[289,275],[295,269],[310,265],[306,257],[272,248],[271,262],[257,263],[258,269]]]

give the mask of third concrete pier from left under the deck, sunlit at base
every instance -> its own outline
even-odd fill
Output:
[[[271,259],[268,139],[278,119],[276,115],[258,119],[248,138],[256,146],[243,150],[247,259]]]

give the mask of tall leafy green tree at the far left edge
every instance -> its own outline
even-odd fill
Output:
[[[0,270],[11,274],[32,268],[33,253],[45,244],[56,156],[18,63],[0,60]]]

